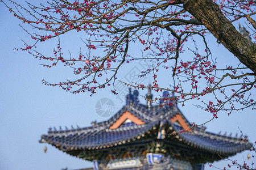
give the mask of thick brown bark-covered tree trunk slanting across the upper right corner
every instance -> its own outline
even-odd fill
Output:
[[[183,7],[245,66],[256,73],[256,45],[246,40],[212,0],[187,0]]]

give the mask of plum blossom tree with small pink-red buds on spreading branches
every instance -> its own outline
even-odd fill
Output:
[[[31,36],[30,42],[17,50],[27,51],[35,58],[45,60],[42,65],[54,67],[60,63],[71,67],[75,80],[52,83],[63,90],[91,95],[106,86],[114,88],[118,70],[125,63],[138,60],[156,62],[141,76],[153,74],[153,86],[134,82],[135,88],[151,88],[157,92],[175,92],[176,96],[163,96],[164,100],[184,103],[187,100],[202,100],[199,107],[217,118],[218,111],[230,114],[245,108],[255,109],[256,88],[256,23],[255,1],[252,0],[52,0],[39,5],[20,5],[18,2],[1,1],[14,16],[33,29],[24,31]],[[14,8],[15,7],[15,8]],[[247,39],[233,24],[244,22],[252,32]],[[80,33],[86,53],[71,57],[61,49],[61,36],[67,32]],[[86,35],[86,36],[85,36]],[[207,35],[213,35],[239,65],[218,66],[207,44]],[[198,38],[200,37],[200,39]],[[36,50],[36,45],[56,39],[57,46],[52,56]],[[204,47],[198,47],[198,41]],[[129,46],[138,44],[148,56],[129,54]],[[184,56],[184,51],[190,56]],[[159,69],[167,71],[174,82],[170,87],[158,84]],[[185,88],[184,88],[185,87]],[[204,100],[204,97],[207,99]],[[210,97],[209,97],[210,96]],[[155,98],[152,100],[154,102]]]

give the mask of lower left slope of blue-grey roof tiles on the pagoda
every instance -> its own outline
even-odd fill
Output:
[[[128,141],[143,135],[153,126],[158,124],[158,121],[150,122],[144,125],[124,126],[118,129],[90,129],[59,133],[48,133],[42,135],[42,141],[64,147],[94,148],[106,145],[114,145],[123,141]],[[99,128],[99,127],[98,127]]]

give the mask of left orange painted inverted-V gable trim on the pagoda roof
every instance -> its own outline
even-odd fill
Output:
[[[130,119],[131,121],[134,122],[134,124],[137,125],[143,125],[145,124],[145,122],[143,122],[142,120],[140,120],[138,117],[134,116],[133,114],[131,114],[130,112],[125,112],[122,114],[122,116],[120,116],[118,118],[117,121],[114,122],[114,124],[112,126],[110,126],[109,129],[117,129],[120,125],[122,125],[123,122],[125,122],[127,119]]]

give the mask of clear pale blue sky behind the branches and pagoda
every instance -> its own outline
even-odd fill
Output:
[[[127,92],[127,88],[119,91],[119,96],[112,95],[106,88],[90,97],[86,93],[73,95],[58,87],[44,86],[41,82],[42,79],[49,80],[49,82],[60,82],[66,78],[72,78],[72,70],[62,66],[47,69],[40,65],[38,59],[26,52],[13,50],[23,45],[21,39],[28,40],[29,38],[26,32],[19,27],[20,23],[20,20],[14,18],[13,14],[0,3],[0,169],[60,170],[66,167],[68,169],[92,167],[90,162],[69,156],[50,145],[39,143],[40,136],[46,134],[49,127],[56,126],[57,129],[59,126],[62,126],[63,129],[65,126],[71,128],[71,125],[85,127],[90,126],[90,122],[94,120],[99,122],[110,118],[98,116],[95,104],[102,97],[108,97],[114,101],[114,113],[116,113],[125,104],[125,96],[121,94],[124,91]],[[79,46],[83,45],[79,37],[75,35],[62,40],[64,46],[76,53]],[[214,37],[209,37],[209,41],[209,45],[213,47],[214,56],[220,56],[223,63],[238,62],[238,59],[234,58],[222,45],[217,47]],[[42,50],[51,54],[53,45],[56,44],[49,42],[49,45]],[[130,48],[135,48],[135,46],[130,46]],[[138,54],[140,55],[140,53]],[[118,78],[126,80],[129,73],[137,69],[134,66],[138,70],[142,69],[139,63],[137,65],[126,64],[120,70]],[[144,84],[152,82],[150,76],[152,75],[143,80]],[[166,81],[167,75],[159,75],[159,82],[161,79],[162,82]],[[147,91],[139,92],[141,95],[147,93]],[[255,95],[255,90],[253,92]],[[141,103],[146,104],[143,99],[140,100]],[[187,103],[185,107],[180,105],[178,107],[189,121],[197,124],[212,117],[209,113],[194,107],[192,102]],[[221,113],[218,116],[218,119],[206,125],[207,131],[213,133],[222,131],[221,134],[227,131],[227,135],[232,133],[234,136],[236,133],[240,135],[239,126],[243,133],[249,136],[250,142],[256,141],[255,111],[246,109],[243,112],[234,112],[230,116],[226,113]],[[47,153],[43,151],[44,146],[47,146]],[[237,159],[242,163],[243,159],[247,160],[248,153],[249,151],[245,151],[230,159]],[[228,162],[225,160],[213,163],[219,168],[223,168],[226,164]],[[214,169],[207,164],[205,167]]]

